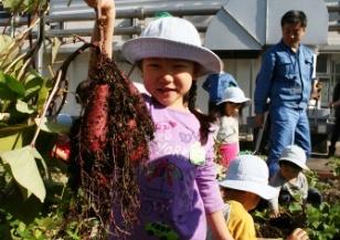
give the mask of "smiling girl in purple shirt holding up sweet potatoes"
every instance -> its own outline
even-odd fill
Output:
[[[86,2],[95,8],[97,1]],[[99,2],[103,45],[110,55],[114,1]],[[98,38],[95,28],[93,41]],[[156,126],[149,159],[138,169],[139,221],[126,238],[205,239],[208,220],[217,239],[232,239],[215,180],[210,123],[194,107],[196,77],[221,72],[221,60],[201,45],[193,24],[173,17],[152,21],[140,38],[124,44],[123,53],[140,66],[150,94],[145,101]]]

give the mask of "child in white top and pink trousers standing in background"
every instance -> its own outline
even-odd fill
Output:
[[[240,87],[227,87],[224,96],[217,103],[219,129],[216,131],[216,142],[221,144],[221,165],[227,167],[240,152],[238,146],[238,114],[242,108],[249,103]]]

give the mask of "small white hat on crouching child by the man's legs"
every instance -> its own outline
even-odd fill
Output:
[[[309,168],[306,165],[307,156],[306,152],[297,145],[289,145],[284,150],[278,160],[279,161],[290,161],[304,170],[308,170]]]

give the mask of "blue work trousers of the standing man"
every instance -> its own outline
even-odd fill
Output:
[[[272,177],[279,169],[278,159],[288,145],[296,144],[310,155],[310,129],[306,109],[275,106],[269,109],[272,122],[267,165]]]

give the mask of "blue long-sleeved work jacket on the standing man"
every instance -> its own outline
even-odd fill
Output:
[[[280,41],[268,49],[256,77],[255,113],[266,111],[267,98],[270,98],[270,108],[306,108],[314,84],[312,73],[314,54],[307,46],[300,44],[295,53]]]

